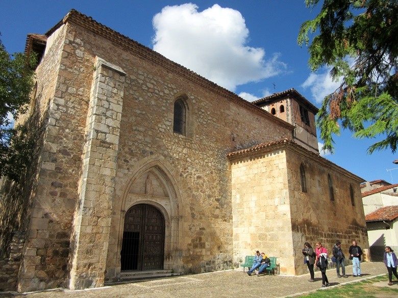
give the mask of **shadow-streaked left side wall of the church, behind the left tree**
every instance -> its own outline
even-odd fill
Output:
[[[60,42],[58,40],[58,42]],[[58,51],[58,49],[56,50]],[[50,58],[52,57],[52,58]],[[46,126],[51,119],[48,118],[48,99],[54,96],[54,85],[55,78],[57,76],[57,55],[49,55],[45,63],[40,64],[36,69],[37,84],[35,88],[35,95],[32,96],[30,108],[24,115],[20,115],[16,121],[16,124],[24,124],[28,127],[28,139],[35,143],[35,148],[31,152],[31,162],[27,169],[21,169],[20,181],[11,182],[4,178],[1,189],[1,200],[0,200],[0,242],[2,247],[3,257],[6,259],[13,259],[10,255],[9,247],[11,246],[10,240],[13,235],[25,235],[29,238],[36,238],[37,229],[35,225],[31,225],[32,215],[35,216],[34,207],[35,195],[38,187],[38,173],[43,174],[44,170],[40,170],[38,166],[42,159],[42,150],[44,146],[44,139],[46,133]],[[48,148],[48,145],[46,146]],[[40,188],[40,187],[39,187]],[[44,216],[43,216],[44,217]],[[22,240],[21,240],[22,241]],[[25,244],[26,242],[23,241]],[[20,243],[23,243],[20,242]],[[41,241],[38,240],[38,243]],[[43,244],[44,245],[44,244]],[[35,243],[36,246],[36,243]],[[25,260],[29,258],[36,258],[43,260],[43,250],[29,249],[27,246],[23,246],[21,249],[22,258],[13,259],[13,265],[8,268],[8,273],[11,276],[21,275],[22,278],[18,277],[18,280],[23,280],[24,268],[20,270],[21,261],[23,264]],[[38,254],[41,254],[40,256]],[[44,254],[45,255],[45,254]],[[17,265],[17,263],[19,264]],[[39,263],[41,261],[38,261]],[[10,273],[10,270],[15,270],[14,273]],[[33,265],[33,270],[39,268]],[[19,287],[18,281],[12,279],[13,284],[10,284],[10,288],[15,290]],[[29,281],[28,281],[29,284]],[[33,288],[36,289],[35,285]]]

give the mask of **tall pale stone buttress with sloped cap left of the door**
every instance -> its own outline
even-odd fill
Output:
[[[68,266],[72,290],[104,285],[114,197],[126,73],[101,58],[94,69]]]

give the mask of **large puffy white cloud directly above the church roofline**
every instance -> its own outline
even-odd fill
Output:
[[[154,50],[230,91],[286,69],[279,53],[266,60],[263,48],[246,45],[249,31],[239,11],[218,4],[197,9],[189,3],[156,14]]]

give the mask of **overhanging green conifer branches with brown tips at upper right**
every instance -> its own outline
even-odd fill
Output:
[[[306,0],[315,7],[319,0]],[[396,0],[325,0],[320,13],[301,26],[297,42],[310,43],[312,71],[331,67],[340,87],[325,97],[317,114],[320,138],[333,152],[332,134],[340,125],[356,138],[384,140],[368,148],[398,144],[398,2]]]

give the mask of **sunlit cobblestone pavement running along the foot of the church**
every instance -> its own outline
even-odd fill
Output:
[[[357,282],[371,277],[386,275],[387,270],[383,262],[363,262],[361,263],[362,277],[352,276],[352,266],[346,266],[346,274],[349,278],[337,278],[336,269],[327,270],[330,286],[341,285],[344,283]],[[134,283],[118,284],[103,288],[88,290],[70,291],[66,289],[56,289],[51,291],[32,292],[25,294],[1,293],[0,297],[20,297],[20,298],[114,298],[114,297],[134,297],[134,298],[185,298],[185,297],[244,297],[252,292],[256,292],[266,286],[267,292],[272,293],[273,297],[294,296],[300,293],[308,293],[320,288],[320,272],[315,272],[315,282],[308,282],[309,275],[302,276],[248,276],[242,270],[227,270],[197,275],[177,276],[172,278],[157,279],[151,281],[141,281]],[[387,285],[387,276],[386,282]],[[381,285],[380,285],[381,284]],[[383,286],[383,283],[379,283]],[[394,282],[393,288],[398,289],[398,282]],[[325,289],[326,291],[328,288]]]

